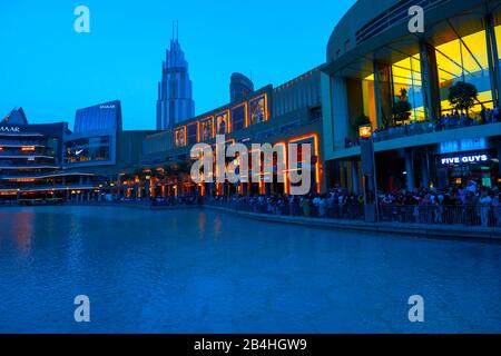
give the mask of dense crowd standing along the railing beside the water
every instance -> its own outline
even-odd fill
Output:
[[[208,205],[226,206],[258,214],[364,219],[365,202],[374,207],[377,201],[380,220],[421,224],[466,224],[501,227],[501,194],[498,188],[478,187],[471,180],[466,187],[439,190],[399,189],[374,194],[350,192],[333,188],[326,194],[307,196],[252,195],[206,198]]]

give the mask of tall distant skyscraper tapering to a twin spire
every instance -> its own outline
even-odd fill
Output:
[[[193,85],[189,80],[188,62],[179,44],[178,24],[173,22],[170,49],[161,65],[161,81],[158,83],[157,130],[171,129],[183,120],[195,116]]]

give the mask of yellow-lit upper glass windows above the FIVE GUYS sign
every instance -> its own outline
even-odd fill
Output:
[[[471,83],[478,90],[478,97],[473,106],[469,108],[470,118],[479,119],[482,108],[488,110],[495,106],[492,90],[495,80],[491,76],[494,69],[489,65],[487,30],[460,36],[452,24],[450,28],[451,33],[455,33],[455,39],[430,47],[432,53],[425,60],[422,58],[424,55],[419,52],[410,52],[409,57],[395,61],[381,59],[374,65],[377,75],[370,73],[363,77],[363,112],[371,119],[374,129],[379,126],[387,128],[424,121],[429,111],[425,106],[425,81],[429,81],[432,88],[429,118],[434,122],[440,119],[440,116],[455,113],[454,107],[449,101],[449,92],[450,88],[459,81]],[[498,50],[492,49],[492,53],[498,56],[498,63],[500,63],[501,26],[495,27],[494,32]],[[423,78],[423,63],[431,67],[428,78]],[[352,106],[358,102],[353,92],[348,96]],[[376,101],[380,102],[380,108]],[[407,115],[397,116],[395,112],[397,111],[394,110],[395,105],[400,101],[409,102]],[[432,106],[436,109],[432,110]],[[377,109],[380,117],[377,117]]]

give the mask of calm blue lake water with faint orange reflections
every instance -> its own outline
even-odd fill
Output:
[[[501,245],[196,209],[0,210],[1,333],[499,333],[500,276]]]

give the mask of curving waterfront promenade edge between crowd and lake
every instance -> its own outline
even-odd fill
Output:
[[[153,210],[179,210],[179,209],[210,209],[229,212],[243,218],[254,219],[259,221],[308,226],[312,228],[323,228],[332,230],[352,230],[360,233],[376,233],[376,234],[396,234],[415,237],[428,238],[459,238],[472,239],[480,241],[495,241],[501,243],[501,227],[489,226],[482,227],[477,224],[471,215],[475,212],[461,211],[458,208],[443,207],[445,218],[436,220],[433,218],[430,209],[423,209],[415,216],[415,210],[412,220],[406,219],[406,211],[401,207],[397,215],[386,214],[384,209],[380,211],[380,221],[365,221],[363,206],[351,207],[350,209],[336,209],[330,211],[327,216],[318,216],[315,210],[312,210],[310,216],[304,216],[297,211],[268,211],[266,206],[249,206],[232,200],[206,199],[205,201],[196,198],[171,200],[169,204],[157,204],[150,200],[114,200],[114,201],[66,201],[58,202],[65,206],[108,206],[116,208],[134,208],[134,209],[153,209]],[[49,201],[45,205],[51,205]],[[18,205],[9,205],[17,207]],[[7,207],[7,205],[3,205]],[[1,207],[0,207],[1,209]],[[285,214],[286,212],[286,214]],[[390,217],[392,218],[390,218]],[[461,217],[456,219],[449,219],[451,217]]]

